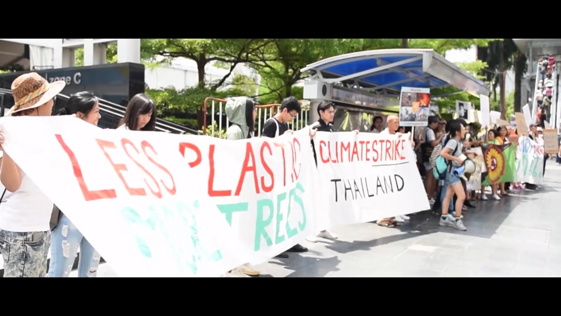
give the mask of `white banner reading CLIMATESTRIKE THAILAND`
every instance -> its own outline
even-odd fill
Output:
[[[334,226],[430,209],[408,135],[318,132],[319,192]]]

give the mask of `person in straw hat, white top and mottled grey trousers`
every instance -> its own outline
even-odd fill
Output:
[[[36,73],[24,74],[12,83],[11,116],[49,116],[53,98],[65,82],[48,83]],[[0,146],[4,135],[0,131]],[[53,202],[3,153],[0,180],[6,187],[0,206],[0,248],[4,277],[44,277],[50,245]]]

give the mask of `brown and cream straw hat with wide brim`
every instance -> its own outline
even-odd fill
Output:
[[[12,82],[15,105],[10,109],[10,114],[44,105],[60,93],[65,85],[63,81],[49,83],[37,73],[17,77]]]

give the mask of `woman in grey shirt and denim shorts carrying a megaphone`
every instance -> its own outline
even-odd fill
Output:
[[[448,169],[446,171],[446,177],[444,179],[444,188],[446,191],[444,199],[442,201],[442,217],[440,218],[440,226],[451,226],[460,231],[466,231],[467,228],[462,222],[462,206],[463,201],[466,199],[466,193],[463,190],[462,182],[460,181],[460,176],[466,172],[466,168],[471,168],[471,165],[464,165],[464,161],[467,157],[462,154],[463,141],[462,139],[466,136],[466,129],[458,120],[450,121],[449,123],[450,133],[446,139],[446,145],[440,152],[440,156],[448,161]],[[466,150],[465,154],[476,155],[475,152]],[[473,165],[475,167],[475,165]],[[475,169],[475,168],[473,168]],[[469,170],[467,170],[469,171]],[[456,217],[452,218],[448,216],[448,209],[450,205],[450,200],[456,194]]]

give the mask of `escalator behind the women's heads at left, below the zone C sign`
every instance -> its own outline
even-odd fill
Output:
[[[68,98],[65,94],[57,95],[53,106],[53,115],[66,105]],[[4,113],[7,113],[13,104],[12,91],[0,88],[0,116],[4,116]],[[125,106],[99,99],[99,113],[102,118],[99,120],[98,126],[100,128],[117,128],[119,121],[125,116],[126,110]],[[197,130],[158,118],[156,119],[156,130],[174,134],[199,134]]]

